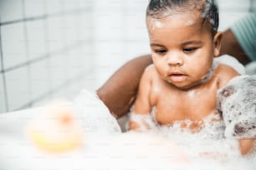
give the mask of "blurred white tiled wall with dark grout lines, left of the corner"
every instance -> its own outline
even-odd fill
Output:
[[[0,1],[0,112],[94,89],[92,14],[92,1]]]

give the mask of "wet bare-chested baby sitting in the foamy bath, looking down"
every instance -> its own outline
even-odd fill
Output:
[[[239,75],[233,67],[213,62],[222,39],[218,7],[211,0],[151,0],[146,26],[154,64],[141,77],[128,128],[179,121],[181,128],[196,133],[205,117],[219,114],[218,89]]]

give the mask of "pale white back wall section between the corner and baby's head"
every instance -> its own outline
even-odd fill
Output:
[[[95,73],[97,85],[131,57],[150,52],[146,0],[95,0]]]

